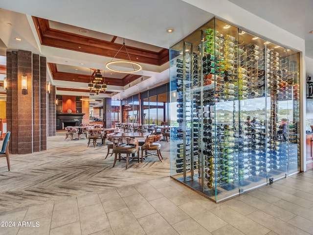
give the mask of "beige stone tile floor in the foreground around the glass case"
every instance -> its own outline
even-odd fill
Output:
[[[165,177],[5,211],[0,221],[15,222],[1,222],[0,235],[312,235],[313,170],[219,204]]]

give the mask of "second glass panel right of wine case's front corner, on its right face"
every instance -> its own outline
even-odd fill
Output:
[[[239,30],[239,187],[266,184],[267,88],[266,41]],[[242,86],[240,85],[242,84]]]

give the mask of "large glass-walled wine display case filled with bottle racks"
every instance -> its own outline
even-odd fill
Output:
[[[216,18],[171,47],[171,177],[218,202],[298,172],[299,64]]]

